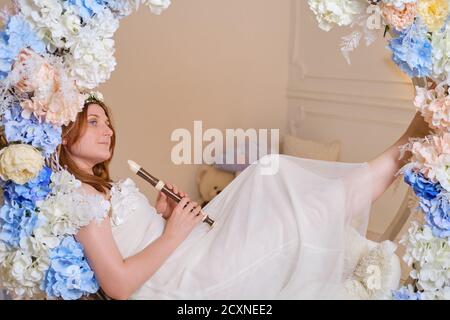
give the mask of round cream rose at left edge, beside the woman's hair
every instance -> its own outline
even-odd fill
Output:
[[[0,150],[0,177],[25,184],[35,178],[44,166],[44,157],[33,146],[13,144]]]

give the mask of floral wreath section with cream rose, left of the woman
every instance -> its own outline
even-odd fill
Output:
[[[139,5],[170,0],[13,0],[0,12],[0,288],[13,298],[80,299],[99,285],[74,235],[109,202],[59,165],[62,126],[114,70],[113,35]]]

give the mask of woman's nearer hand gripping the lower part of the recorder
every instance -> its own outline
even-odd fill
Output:
[[[167,219],[163,236],[178,242],[183,241],[196,225],[203,220],[198,203],[184,197],[172,211]]]

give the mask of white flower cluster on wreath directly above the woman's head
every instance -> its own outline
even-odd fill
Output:
[[[109,79],[116,66],[113,36],[119,27],[109,8],[84,22],[79,9],[69,2],[19,0],[19,5],[49,52],[66,50],[65,67],[81,90],[93,89]]]

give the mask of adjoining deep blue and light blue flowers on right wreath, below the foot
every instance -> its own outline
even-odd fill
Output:
[[[419,197],[419,206],[425,213],[426,223],[439,238],[450,236],[450,200],[439,183],[428,181],[413,170],[404,172],[404,179]]]

